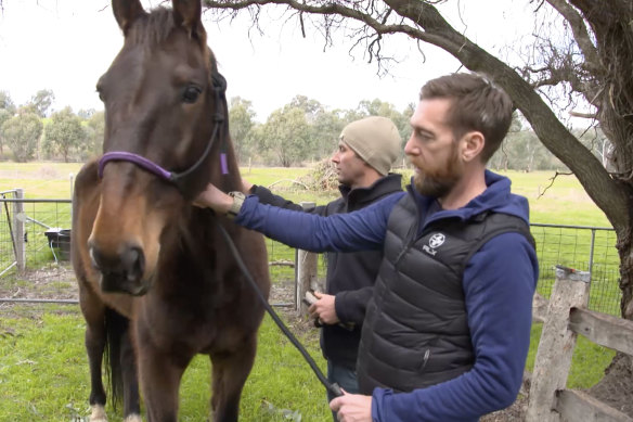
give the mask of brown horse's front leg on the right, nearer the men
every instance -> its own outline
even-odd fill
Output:
[[[237,422],[242,388],[253,369],[256,349],[257,332],[254,332],[234,353],[211,354],[214,422]]]

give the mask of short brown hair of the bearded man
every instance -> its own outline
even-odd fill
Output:
[[[483,135],[481,161],[487,163],[512,124],[514,106],[509,95],[483,75],[460,73],[426,82],[419,100],[432,99],[452,100],[447,124],[452,127],[455,139],[470,130]]]

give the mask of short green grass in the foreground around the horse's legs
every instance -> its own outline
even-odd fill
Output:
[[[85,323],[77,306],[16,307],[0,320],[1,421],[69,421],[88,414]],[[325,370],[315,337],[301,342]],[[210,363],[198,356],[181,384],[180,421],[204,421],[209,412]],[[107,407],[108,420],[120,412]],[[295,419],[288,415],[295,415]],[[244,387],[241,420],[323,421],[325,391],[299,353],[267,316],[259,331],[255,366]]]

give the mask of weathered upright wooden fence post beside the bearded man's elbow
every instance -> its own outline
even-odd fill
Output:
[[[556,391],[564,389],[571,366],[577,334],[568,329],[572,307],[586,307],[590,277],[556,266],[556,282],[550,297],[547,319],[543,323],[530,386],[527,422],[559,421]]]

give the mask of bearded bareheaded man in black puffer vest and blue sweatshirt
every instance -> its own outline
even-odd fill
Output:
[[[356,213],[295,213],[212,184],[196,199],[293,247],[384,252],[359,345],[361,394],[330,402],[340,422],[475,422],[516,399],[539,263],[527,199],[486,168],[512,113],[487,77],[429,80],[404,146],[412,183]]]

